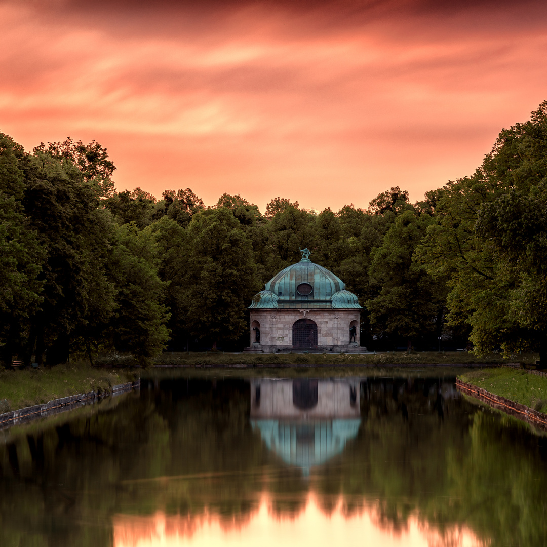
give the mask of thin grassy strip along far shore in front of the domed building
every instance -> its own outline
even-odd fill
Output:
[[[522,353],[504,359],[498,353],[476,356],[472,352],[386,352],[366,354],[345,353],[171,353],[165,352],[154,359],[156,365],[426,365],[441,364],[467,366],[473,364],[522,363],[532,364],[538,354]],[[108,359],[102,359],[104,364]]]

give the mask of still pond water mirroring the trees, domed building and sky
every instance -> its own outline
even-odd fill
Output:
[[[0,545],[547,545],[547,442],[454,379],[143,381],[0,432]]]

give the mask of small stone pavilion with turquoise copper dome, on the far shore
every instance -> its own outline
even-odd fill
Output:
[[[366,351],[359,344],[361,309],[340,278],[305,256],[254,296],[246,351]]]

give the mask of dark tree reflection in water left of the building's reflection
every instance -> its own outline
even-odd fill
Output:
[[[0,446],[0,544],[19,545],[31,530],[37,545],[110,545],[111,515],[159,508],[244,517],[261,464],[247,389],[143,391],[141,404],[128,399]],[[171,475],[181,478],[161,479]]]

